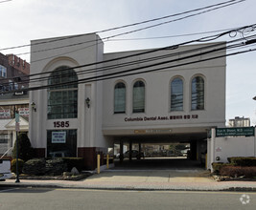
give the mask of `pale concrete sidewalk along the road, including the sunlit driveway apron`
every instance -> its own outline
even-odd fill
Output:
[[[191,190],[191,191],[255,191],[256,181],[216,181],[209,172],[195,170],[105,170],[87,179],[32,180],[14,179],[0,182],[12,187],[56,187],[106,190]]]

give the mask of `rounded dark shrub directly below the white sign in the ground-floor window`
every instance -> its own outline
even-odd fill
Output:
[[[45,166],[47,175],[58,176],[67,171],[67,164],[62,158],[48,159]]]

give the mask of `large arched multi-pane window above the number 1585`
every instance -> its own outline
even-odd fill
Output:
[[[58,67],[51,73],[48,85],[48,119],[77,118],[77,73],[67,66]]]

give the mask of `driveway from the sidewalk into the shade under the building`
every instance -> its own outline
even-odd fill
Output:
[[[87,178],[86,182],[214,182],[198,161],[186,158],[115,160],[115,167]]]

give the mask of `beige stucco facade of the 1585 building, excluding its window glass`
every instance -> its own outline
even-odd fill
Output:
[[[145,53],[151,50],[105,53],[104,43],[94,33],[32,41],[31,73],[44,74],[39,75],[40,81],[31,82],[30,88],[47,86],[47,79],[43,78],[59,66],[74,68],[79,80],[75,118],[48,119],[47,89],[30,94],[30,104],[35,103],[36,107],[30,115],[32,145],[40,156],[47,156],[48,131],[76,130],[76,156],[88,159],[86,164],[93,168],[95,154],[105,153],[123,138],[145,142],[206,138],[208,130],[225,124],[226,63],[225,50],[203,52],[224,46],[224,43],[213,43],[151,53]],[[192,56],[195,53],[198,55]],[[130,56],[134,54],[137,55]],[[184,56],[189,57],[184,59]],[[206,60],[213,56],[220,58]],[[85,73],[95,69],[96,72]],[[103,75],[108,79],[102,80]],[[204,108],[192,111],[192,80],[196,76],[204,80]],[[171,82],[176,77],[183,81],[183,108],[171,111]],[[145,84],[143,113],[132,112],[132,89],[138,80]],[[122,114],[114,114],[114,87],[118,82],[126,85],[126,111]],[[89,107],[86,98],[90,99]],[[63,127],[57,127],[62,121]]]

